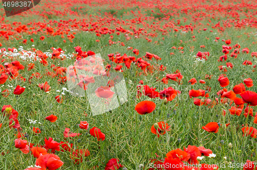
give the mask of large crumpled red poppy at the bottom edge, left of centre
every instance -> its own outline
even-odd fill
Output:
[[[36,159],[35,164],[42,169],[55,170],[63,165],[63,161],[54,154],[41,154],[39,158]]]

